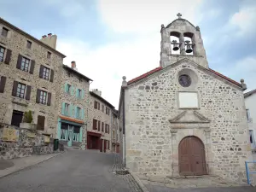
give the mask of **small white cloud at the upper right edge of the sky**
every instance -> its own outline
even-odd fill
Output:
[[[255,33],[256,30],[256,6],[241,7],[236,14],[230,18],[230,25],[236,26],[238,31],[235,31],[237,35],[250,35]]]

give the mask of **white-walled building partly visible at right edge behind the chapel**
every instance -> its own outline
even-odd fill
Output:
[[[256,153],[256,90],[244,94],[251,148]]]

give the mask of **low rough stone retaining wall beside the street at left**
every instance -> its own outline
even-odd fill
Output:
[[[16,129],[19,131],[19,138],[16,142],[3,141],[3,128]],[[34,133],[35,137],[28,137]],[[0,125],[0,160],[9,160],[20,157],[31,156],[32,154],[52,154],[60,152],[60,148],[54,151],[53,139],[44,143],[42,131],[30,131],[20,129],[13,125]]]

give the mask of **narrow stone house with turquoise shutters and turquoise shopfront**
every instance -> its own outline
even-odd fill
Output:
[[[86,148],[90,78],[79,73],[76,62],[62,66],[58,95],[57,138],[68,147]]]

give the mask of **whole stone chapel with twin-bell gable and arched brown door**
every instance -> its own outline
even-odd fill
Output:
[[[245,176],[251,160],[243,90],[208,66],[199,26],[177,15],[162,25],[160,67],[123,83],[119,98],[122,157],[152,176]]]

